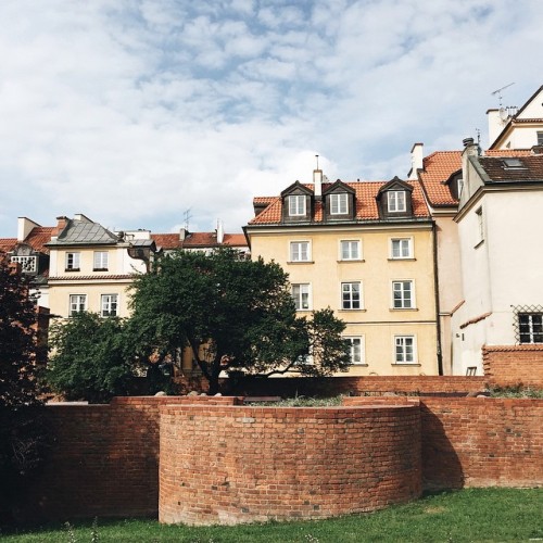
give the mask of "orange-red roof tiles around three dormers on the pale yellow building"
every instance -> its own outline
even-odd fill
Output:
[[[356,197],[356,214],[355,220],[378,220],[379,210],[377,207],[376,197],[379,189],[387,185],[388,181],[354,181],[345,182],[348,187],[355,190]],[[415,217],[428,217],[429,211],[426,205],[422,190],[418,182],[406,181],[413,187],[413,214]],[[323,192],[325,192],[331,184],[323,184]],[[313,190],[313,185],[306,185]],[[263,198],[263,197],[260,197]],[[256,200],[256,199],[255,199]],[[269,225],[281,223],[282,219],[282,201],[280,197],[268,198],[269,205],[256,217],[249,222],[250,225]],[[316,202],[314,223],[323,222],[323,204]]]

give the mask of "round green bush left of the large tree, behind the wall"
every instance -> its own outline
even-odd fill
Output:
[[[103,403],[126,393],[132,361],[119,318],[79,313],[51,327],[50,346],[47,381],[66,400]]]

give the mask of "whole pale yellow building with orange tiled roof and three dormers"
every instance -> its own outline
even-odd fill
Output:
[[[438,375],[433,225],[418,182],[295,182],[256,198],[253,258],[289,274],[300,315],[346,324],[351,375]]]

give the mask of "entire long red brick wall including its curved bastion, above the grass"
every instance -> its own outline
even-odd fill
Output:
[[[199,521],[207,498],[206,515],[236,521],[266,512],[306,518],[365,510],[406,500],[421,484],[543,485],[543,400],[370,396],[311,409],[238,402],[162,396],[50,406],[54,447],[20,518],[156,517],[160,439],[162,458],[174,462],[171,472],[161,465],[167,521]],[[412,454],[419,450],[417,483]],[[194,505],[180,512],[178,502]]]

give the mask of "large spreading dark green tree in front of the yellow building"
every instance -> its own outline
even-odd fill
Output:
[[[136,277],[131,310],[138,353],[175,359],[190,346],[212,394],[222,370],[326,375],[349,365],[344,325],[330,310],[296,318],[281,267],[232,250],[162,257]]]

